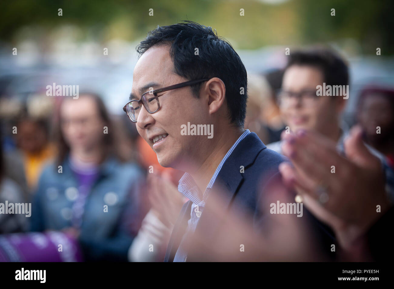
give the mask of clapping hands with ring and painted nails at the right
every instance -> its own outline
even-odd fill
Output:
[[[381,162],[354,127],[346,139],[346,158],[336,144],[317,133],[283,134],[282,152],[292,161],[279,166],[284,182],[305,206],[331,226],[344,250],[350,250],[389,208]],[[379,212],[380,208],[380,212]]]

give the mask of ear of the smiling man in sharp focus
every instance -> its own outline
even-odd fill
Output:
[[[225,102],[226,86],[220,78],[213,77],[205,84],[203,93],[208,100],[209,113],[212,114]]]

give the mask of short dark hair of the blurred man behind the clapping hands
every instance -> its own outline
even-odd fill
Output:
[[[286,65],[313,66],[323,72],[323,82],[326,85],[348,85],[349,68],[345,61],[328,48],[312,48],[290,52]]]

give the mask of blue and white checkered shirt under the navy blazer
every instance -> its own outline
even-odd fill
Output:
[[[217,166],[217,169],[212,176],[212,179],[208,183],[208,186],[206,186],[206,189],[203,194],[203,199],[201,199],[201,191],[199,190],[197,184],[193,180],[190,174],[185,173],[182,178],[179,180],[178,184],[178,191],[182,193],[185,197],[187,197],[193,204],[191,205],[191,212],[190,212],[190,219],[188,221],[188,228],[186,230],[186,233],[182,237],[182,240],[180,242],[179,248],[177,250],[177,253],[175,254],[174,257],[174,262],[184,262],[186,261],[186,258],[188,256],[188,253],[186,250],[183,248],[184,242],[187,239],[188,234],[194,233],[198,221],[201,217],[203,208],[205,206],[205,201],[206,198],[208,197],[208,193],[212,186],[214,185],[214,182],[217,178],[217,175],[219,175],[219,172],[223,166],[223,164],[226,162],[227,158],[231,155],[231,153],[234,151],[235,147],[245,138],[250,133],[249,129],[245,130],[243,134],[238,138],[238,140],[232,145],[232,147],[229,149],[227,154],[224,156],[224,158],[221,160],[219,166]]]

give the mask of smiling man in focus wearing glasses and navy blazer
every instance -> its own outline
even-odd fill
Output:
[[[162,166],[186,172],[178,190],[190,201],[180,212],[165,256],[165,261],[186,261],[188,236],[214,237],[220,226],[204,212],[210,193],[225,188],[228,212],[243,208],[255,214],[260,178],[279,175],[283,159],[243,129],[246,70],[212,28],[190,21],[158,27],[137,51],[130,102],[123,110]],[[181,134],[188,123],[213,125],[213,138]]]

